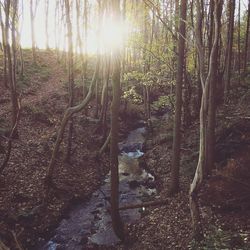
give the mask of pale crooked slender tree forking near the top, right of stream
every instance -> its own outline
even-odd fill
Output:
[[[215,62],[216,58],[216,50],[218,49],[218,41],[219,41],[219,25],[218,25],[218,10],[219,5],[223,3],[222,0],[211,0],[215,1],[215,11],[214,11],[214,38],[213,38],[213,46],[211,48],[211,53],[209,57],[209,71],[207,77],[205,75],[201,75],[202,79],[202,100],[201,100],[201,109],[200,109],[200,146],[199,146],[199,160],[196,167],[194,179],[190,186],[189,191],[189,206],[192,217],[192,226],[193,226],[193,236],[196,240],[200,240],[203,238],[201,218],[200,218],[200,209],[198,204],[198,192],[201,188],[204,174],[205,174],[205,159],[209,157],[206,155],[205,150],[205,142],[206,142],[206,120],[208,118],[208,98],[209,98],[209,87],[211,85],[211,81],[213,80],[213,75],[215,74]],[[201,17],[201,4],[200,0],[196,0],[197,3],[197,22]],[[198,27],[198,25],[197,25]],[[199,44],[199,36],[197,35],[201,31],[196,28],[196,43],[199,50],[199,64],[201,68],[204,68],[204,47],[202,44]],[[201,51],[200,51],[201,50]],[[202,72],[202,71],[201,71]]]

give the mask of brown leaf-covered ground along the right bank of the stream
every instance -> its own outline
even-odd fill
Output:
[[[129,249],[250,249],[249,78],[244,84],[218,110],[216,169],[199,196],[204,240],[192,241],[188,198],[198,161],[198,119],[182,133],[180,192],[169,197],[173,117],[163,116],[153,122],[141,164],[158,180],[157,198],[168,202],[146,208],[146,216],[130,225]]]

